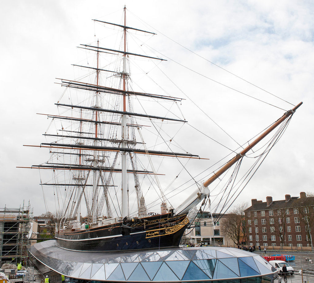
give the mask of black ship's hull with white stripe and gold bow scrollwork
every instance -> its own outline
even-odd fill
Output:
[[[178,247],[189,223],[171,213],[56,235],[57,246],[79,251],[129,251]]]

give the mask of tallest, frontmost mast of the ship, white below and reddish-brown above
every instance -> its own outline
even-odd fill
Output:
[[[124,27],[123,27],[123,37],[124,37],[124,54],[123,54],[123,112],[127,111],[126,106],[126,75],[127,75],[127,29],[126,29],[126,7],[124,6]],[[122,114],[122,147],[127,147],[127,116]],[[128,203],[128,188],[127,188],[127,153],[122,152],[122,217],[129,215],[129,203]]]

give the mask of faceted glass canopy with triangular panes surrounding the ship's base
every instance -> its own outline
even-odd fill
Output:
[[[32,246],[31,254],[65,276],[107,282],[273,282],[278,272],[263,257],[237,248],[95,253],[65,250],[49,240]]]

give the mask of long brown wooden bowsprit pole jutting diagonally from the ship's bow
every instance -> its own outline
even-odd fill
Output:
[[[264,133],[262,133],[257,139],[255,139],[251,144],[249,144],[244,150],[238,153],[234,158],[228,161],[222,168],[217,172],[214,172],[214,175],[210,177],[207,181],[204,182],[204,187],[208,187],[212,182],[214,182],[221,174],[227,171],[233,164],[235,164],[239,159],[241,159],[249,150],[253,148],[257,143],[259,143],[263,138],[265,138],[273,129],[279,126],[286,118],[292,115],[296,109],[298,109],[303,102],[300,102],[297,106],[287,111],[281,118],[273,123]]]

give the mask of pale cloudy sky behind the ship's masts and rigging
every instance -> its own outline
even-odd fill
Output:
[[[91,19],[120,23],[124,5],[128,25],[157,34],[142,40],[147,52],[167,59],[158,65],[167,74],[157,77],[158,84],[184,97],[181,109],[189,123],[226,147],[236,150],[234,140],[247,143],[303,101],[235,204],[313,191],[312,1],[12,0],[0,11],[0,207],[30,201],[34,215],[46,212],[38,171],[16,167],[41,164],[47,151],[23,145],[45,141],[42,134],[50,121],[36,113],[56,112],[54,103],[63,90],[55,78],[72,79],[71,64],[82,59],[76,46],[95,39]],[[101,37],[98,29],[96,36]],[[144,84],[153,93],[154,86]],[[183,129],[183,147],[209,158],[192,174],[230,154],[189,130]],[[178,194],[174,205],[187,194]],[[48,210],[54,210],[51,192],[46,198]]]

